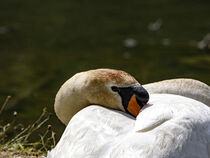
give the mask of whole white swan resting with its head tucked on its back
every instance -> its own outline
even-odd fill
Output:
[[[179,90],[169,86],[174,81]],[[183,82],[205,94],[185,84],[183,94]],[[208,85],[190,79],[153,85],[156,89],[141,86],[128,73],[111,69],[70,78],[55,99],[55,112],[67,127],[47,157],[210,157],[210,108],[204,104],[209,103]]]

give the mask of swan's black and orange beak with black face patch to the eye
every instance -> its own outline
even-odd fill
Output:
[[[125,111],[134,117],[138,116],[140,110],[149,101],[148,92],[140,84],[126,87],[113,86],[112,90],[119,93]]]

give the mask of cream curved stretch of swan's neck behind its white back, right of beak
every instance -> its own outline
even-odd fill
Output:
[[[198,100],[210,107],[210,87],[193,79],[171,79],[143,85],[150,93],[169,93]]]

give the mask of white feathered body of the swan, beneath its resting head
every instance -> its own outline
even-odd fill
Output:
[[[209,158],[210,108],[153,94],[137,120],[100,106],[78,112],[49,158]]]

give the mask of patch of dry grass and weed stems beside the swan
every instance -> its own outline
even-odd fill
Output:
[[[11,97],[8,96],[1,106],[0,117],[10,99]],[[0,120],[0,157],[21,156],[32,158],[46,155],[46,152],[55,146],[55,132],[52,131],[51,125],[46,126],[51,115],[44,108],[39,118],[27,127],[16,123],[17,112],[13,113],[11,122]],[[44,129],[43,133],[39,131],[41,128]],[[39,139],[30,141],[30,137],[34,134],[38,135]]]

